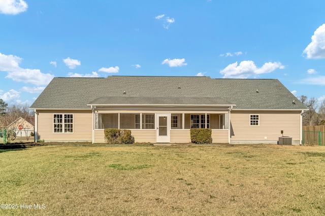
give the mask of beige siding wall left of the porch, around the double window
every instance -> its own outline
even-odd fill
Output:
[[[92,141],[91,111],[37,111],[38,139],[44,141]],[[53,133],[53,114],[73,114],[73,133]]]

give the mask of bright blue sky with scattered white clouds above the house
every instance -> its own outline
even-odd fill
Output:
[[[0,0],[0,98],[53,77],[278,79],[325,98],[325,1]],[[149,85],[149,84],[148,84]]]

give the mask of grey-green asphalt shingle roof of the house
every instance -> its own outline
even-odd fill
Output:
[[[30,108],[90,109],[87,104],[236,104],[235,109],[306,109],[277,79],[133,76],[54,78]]]

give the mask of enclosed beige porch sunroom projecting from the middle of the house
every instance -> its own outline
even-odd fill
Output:
[[[212,130],[212,142],[229,143],[230,111],[228,107],[217,111],[210,109],[209,112],[94,110],[93,142],[105,142],[106,128],[128,129],[136,142],[152,143],[191,142],[191,128],[209,128]]]

